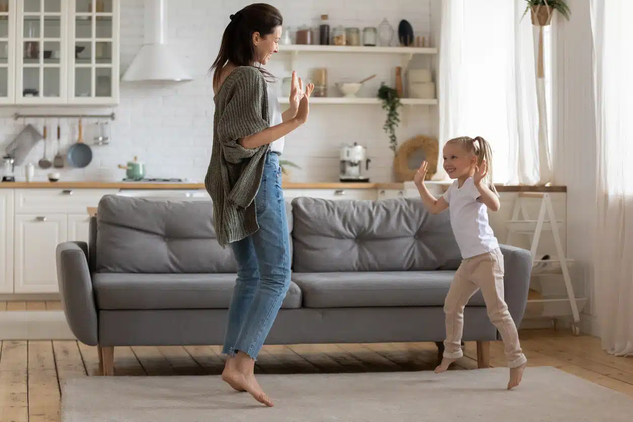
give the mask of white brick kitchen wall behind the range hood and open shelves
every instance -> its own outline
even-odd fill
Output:
[[[143,40],[143,1],[125,0],[121,8],[122,71],[139,50]],[[139,156],[147,166],[149,177],[182,177],[202,180],[211,154],[213,128],[213,94],[211,77],[207,75],[218,51],[222,32],[229,22],[229,15],[254,1],[179,0],[168,6],[168,40],[182,54],[184,62],[192,70],[194,81],[172,86],[141,86],[122,84],[121,104],[113,111],[116,121],[111,123],[111,144],[95,146],[94,160],[84,170],[63,170],[64,180],[120,180],[125,171],[116,168],[133,156]],[[437,46],[439,31],[440,0],[320,0],[297,2],[276,0],[271,2],[284,15],[284,27],[296,29],[298,25],[318,20],[322,13],[330,16],[330,24],[354,26],[378,26],[387,18],[397,30],[401,19],[411,22],[416,32]],[[269,70],[277,77],[289,75],[284,63],[289,54],[277,54]],[[412,62],[412,67],[436,65]],[[398,56],[389,55],[311,55],[299,56],[299,75],[309,77],[310,68],[327,66],[329,82],[339,78],[361,80],[373,73],[361,96],[375,96],[381,81],[394,86],[394,67],[399,66]],[[333,87],[330,87],[333,89]],[[47,109],[48,111],[56,111]],[[22,129],[22,121],[14,121],[14,108],[0,109],[0,151]],[[22,112],[27,110],[23,109]],[[32,111],[32,110],[30,110]],[[42,110],[38,110],[41,112]],[[66,110],[70,111],[70,110]],[[109,113],[109,109],[94,110]],[[437,108],[415,107],[402,111],[403,127],[399,130],[399,142],[418,134],[437,135]],[[382,130],[385,111],[380,106],[312,106],[308,124],[286,139],[287,159],[298,163],[303,170],[293,170],[292,180],[325,182],[337,181],[339,170],[339,146],[342,143],[359,142],[367,146],[372,159],[369,175],[372,181],[392,180],[393,154],[389,139]],[[49,121],[49,124],[56,121]],[[62,128],[62,142],[74,142],[77,121],[72,127]],[[91,143],[95,121],[84,121],[84,139]],[[43,121],[39,121],[40,127]],[[49,131],[54,133],[54,131]],[[49,143],[49,157],[56,146]],[[43,146],[37,145],[28,161],[37,163]],[[17,170],[23,175],[22,169]],[[37,171],[37,177],[45,178],[47,171]]]

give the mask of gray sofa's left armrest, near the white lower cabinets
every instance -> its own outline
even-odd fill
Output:
[[[97,309],[88,268],[88,245],[63,242],[57,245],[55,256],[61,304],[68,326],[80,342],[97,345]]]

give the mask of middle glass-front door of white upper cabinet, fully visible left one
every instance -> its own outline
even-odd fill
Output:
[[[0,0],[1,1],[1,0]],[[59,104],[68,97],[64,0],[18,0],[16,102]]]

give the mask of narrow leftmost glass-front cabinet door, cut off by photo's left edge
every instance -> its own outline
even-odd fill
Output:
[[[0,104],[15,93],[15,0],[0,0]]]

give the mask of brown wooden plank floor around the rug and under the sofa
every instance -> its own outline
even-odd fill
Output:
[[[633,397],[633,358],[601,350],[598,338],[569,332],[522,330],[529,366],[555,366]],[[436,364],[432,343],[266,346],[258,373],[430,371]],[[454,370],[477,368],[474,343]],[[60,383],[97,375],[96,347],[75,341],[0,342],[0,422],[60,420]],[[492,366],[505,366],[503,344],[491,347]],[[116,347],[115,376],[219,375],[219,346]]]

